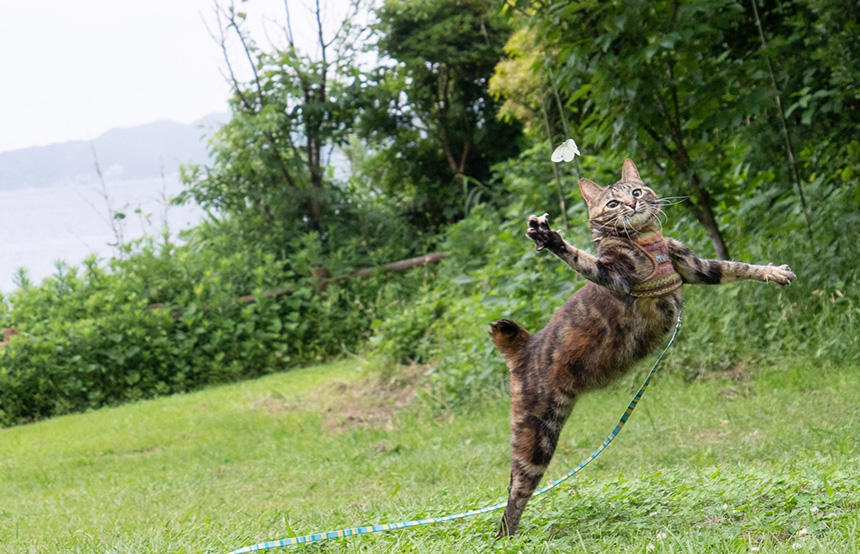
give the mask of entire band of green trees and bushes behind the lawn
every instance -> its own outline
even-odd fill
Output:
[[[146,239],[107,267],[22,275],[0,299],[0,326],[21,331],[0,350],[0,425],[364,348],[432,367],[437,406],[503,391],[486,324],[536,330],[583,284],[522,236],[551,211],[588,244],[576,179],[549,161],[569,134],[577,172],[611,183],[631,157],[660,195],[686,197],[667,235],[798,275],[688,287],[669,366],[856,359],[855,4],[388,0],[363,73],[351,48],[265,51],[245,14],[219,8],[221,45],[234,33],[254,78],[233,78],[211,165],[185,169],[210,220],[182,246]],[[348,179],[325,161],[335,148]],[[438,269],[349,279],[440,246]]]

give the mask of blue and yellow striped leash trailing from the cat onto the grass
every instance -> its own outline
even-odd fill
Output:
[[[597,447],[597,450],[592,452],[591,456],[582,461],[578,466],[570,470],[566,475],[556,479],[555,481],[551,481],[544,488],[536,491],[532,494],[532,498],[535,496],[540,496],[561,483],[567,481],[574,475],[576,475],[582,468],[587,466],[591,461],[598,457],[609,443],[618,435],[621,431],[621,428],[624,427],[624,424],[627,423],[627,420],[630,418],[630,414],[633,413],[633,410],[636,408],[636,405],[639,403],[639,399],[642,398],[642,394],[645,393],[645,389],[648,388],[648,384],[651,382],[651,377],[657,372],[657,369],[660,366],[660,362],[663,360],[663,356],[666,355],[669,348],[675,342],[675,337],[678,336],[678,331],[681,330],[681,314],[678,314],[678,322],[675,324],[675,330],[672,333],[672,338],[669,339],[669,343],[666,345],[666,348],[660,352],[660,355],[657,357],[657,360],[654,362],[654,365],[651,366],[651,370],[648,372],[648,376],[645,378],[645,382],[642,383],[642,386],[639,387],[639,390],[636,392],[636,395],[633,397],[633,400],[630,401],[630,404],[627,406],[627,409],[624,411],[624,414],[621,416],[621,419],[618,421],[618,424],[609,433],[605,439],[603,439],[603,443]],[[449,514],[445,516],[439,517],[429,517],[425,519],[416,519],[412,521],[401,521],[399,523],[381,523],[379,525],[365,525],[363,527],[350,527],[348,529],[338,529],[337,531],[326,531],[323,533],[313,533],[311,535],[302,535],[300,537],[289,537],[286,539],[280,539],[271,542],[261,542],[259,544],[252,544],[250,546],[245,546],[238,550],[232,551],[230,554],[241,554],[244,552],[259,552],[261,550],[269,550],[272,548],[282,548],[285,546],[295,546],[298,544],[304,544],[308,542],[319,542],[324,541],[326,539],[337,539],[340,537],[350,537],[353,535],[366,535],[368,533],[379,533],[380,531],[391,531],[394,529],[407,529],[409,527],[418,527],[419,525],[429,525],[431,523],[441,523],[443,521],[454,521],[455,519],[462,519],[464,517],[472,517],[479,514],[486,514],[489,512],[495,512],[498,510],[503,510],[507,506],[507,502],[502,502],[501,504],[495,504],[493,506],[487,506],[486,508],[478,508],[476,510],[469,510],[466,512],[460,512],[456,514]]]

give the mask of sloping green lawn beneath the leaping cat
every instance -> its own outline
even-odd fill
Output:
[[[584,398],[548,472],[587,456],[640,371]],[[420,403],[354,362],[0,430],[0,551],[223,552],[495,503],[507,402]],[[757,368],[748,380],[658,376],[624,431],[526,508],[326,541],[399,552],[856,552],[858,367]]]

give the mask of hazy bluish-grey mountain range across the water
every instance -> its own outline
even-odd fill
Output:
[[[181,163],[208,161],[208,137],[229,119],[210,114],[191,124],[157,121],[111,129],[92,141],[71,141],[0,152],[0,191],[22,187],[87,184],[98,177],[92,148],[106,180],[158,177]]]

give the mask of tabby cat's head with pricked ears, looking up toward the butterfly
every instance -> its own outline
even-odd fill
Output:
[[[659,228],[660,199],[639,177],[632,160],[624,160],[621,179],[601,187],[589,179],[579,180],[579,190],[588,205],[588,220],[596,237],[632,236]]]

